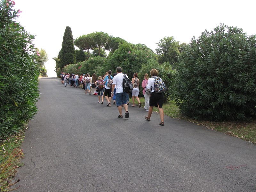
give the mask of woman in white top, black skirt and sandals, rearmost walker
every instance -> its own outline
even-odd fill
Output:
[[[148,116],[145,116],[145,119],[150,121],[151,114],[153,112],[153,108],[158,107],[159,115],[161,122],[160,125],[164,126],[164,110],[163,110],[163,102],[164,102],[164,94],[155,92],[155,79],[158,76],[158,71],[156,69],[151,69],[150,78],[148,79],[147,89],[151,89],[151,95],[149,98],[149,109]]]

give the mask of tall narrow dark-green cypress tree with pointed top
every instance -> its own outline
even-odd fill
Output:
[[[70,27],[66,27],[62,47],[60,50],[60,69],[64,68],[68,64],[76,63],[75,45]]]

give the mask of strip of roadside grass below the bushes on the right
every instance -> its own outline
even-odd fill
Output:
[[[131,101],[131,99],[130,99]],[[137,101],[135,101],[135,105]],[[131,102],[130,102],[131,103]],[[140,98],[140,103],[142,107],[145,106],[145,99],[144,97]],[[231,135],[234,137],[241,138],[243,140],[250,141],[256,144],[256,119],[253,119],[250,122],[238,122],[238,121],[226,121],[226,122],[211,122],[211,121],[196,121],[192,118],[183,116],[180,113],[180,109],[175,104],[174,101],[170,101],[168,103],[163,104],[164,114],[171,117],[182,119],[185,121],[189,121],[192,123],[196,123],[199,125],[203,125],[208,129],[214,129],[219,132],[223,132],[227,135]],[[154,107],[153,111],[159,112],[158,108]]]

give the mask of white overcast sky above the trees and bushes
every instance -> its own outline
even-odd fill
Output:
[[[155,51],[160,39],[173,36],[180,43],[224,23],[256,34],[254,0],[14,0],[18,22],[36,35],[35,47],[48,54],[48,76],[55,77],[56,57],[67,26],[73,38],[103,31]]]

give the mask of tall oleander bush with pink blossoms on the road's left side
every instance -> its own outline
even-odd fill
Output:
[[[14,3],[13,3],[14,4]],[[15,22],[11,1],[0,1],[0,137],[19,132],[37,112],[39,68],[33,35]]]

